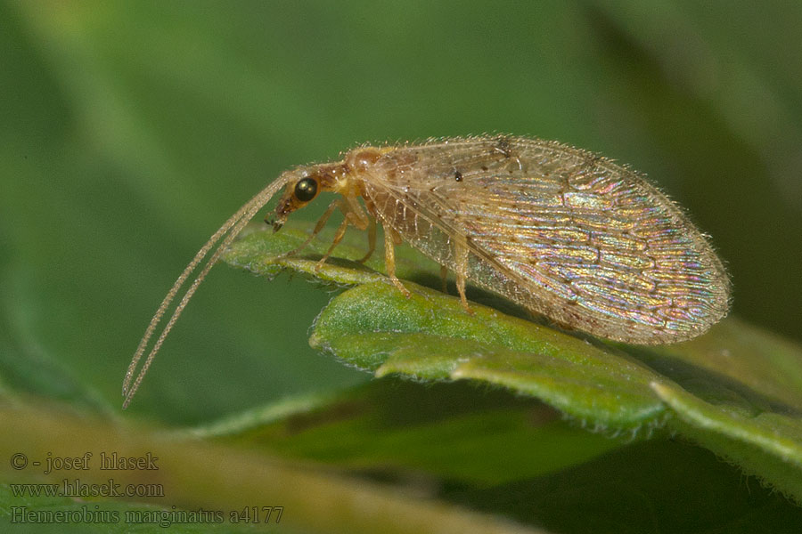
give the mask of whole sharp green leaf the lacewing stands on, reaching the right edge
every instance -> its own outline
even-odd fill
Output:
[[[570,336],[477,303],[469,314],[456,297],[429,287],[405,282],[412,292],[406,298],[364,265],[319,263],[325,237],[283,255],[306,235],[297,228],[254,232],[225,260],[270,276],[291,269],[322,283],[354,285],[315,321],[316,349],[375,376],[501,385],[595,430],[651,435],[668,425],[802,497],[794,482],[802,480],[795,419],[802,409],[802,351],[794,344],[732,318],[690,342],[651,348]],[[351,243],[344,251],[362,255]],[[405,269],[413,269],[414,255],[402,257]],[[418,278],[432,279],[433,270],[422,263]],[[705,438],[713,435],[724,438]],[[746,456],[744,446],[760,454]]]

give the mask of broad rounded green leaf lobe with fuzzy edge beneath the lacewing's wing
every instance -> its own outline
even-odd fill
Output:
[[[636,428],[659,421],[650,391],[658,378],[616,353],[525,320],[408,284],[405,298],[386,281],[348,290],[315,323],[313,347],[377,376],[471,378],[535,396],[593,425]]]

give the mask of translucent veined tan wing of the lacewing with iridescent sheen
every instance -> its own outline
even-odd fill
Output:
[[[569,328],[682,341],[727,312],[728,281],[673,202],[625,167],[554,142],[449,140],[394,150],[366,191],[413,247]]]

